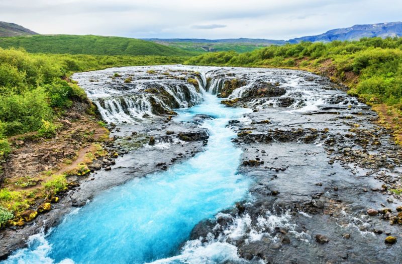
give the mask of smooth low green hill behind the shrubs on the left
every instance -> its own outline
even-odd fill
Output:
[[[1,48],[24,48],[30,53],[87,55],[193,55],[189,51],[137,39],[77,35],[34,35],[0,38]]]

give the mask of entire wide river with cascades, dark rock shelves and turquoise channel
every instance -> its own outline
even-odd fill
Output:
[[[344,87],[182,65],[72,79],[125,154],[2,263],[402,262],[402,239],[384,243],[401,232],[402,150]]]

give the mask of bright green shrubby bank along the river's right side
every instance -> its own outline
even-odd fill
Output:
[[[278,67],[325,75],[347,85],[348,93],[373,107],[379,123],[392,128],[402,143],[402,38],[356,42],[270,46],[250,53],[208,53],[185,64]]]

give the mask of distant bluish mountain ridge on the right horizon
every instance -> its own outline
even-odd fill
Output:
[[[350,28],[335,29],[327,31],[324,34],[317,36],[307,36],[289,40],[289,43],[299,43],[302,41],[310,42],[331,42],[339,41],[354,41],[367,37],[401,37],[402,22],[380,23],[372,25],[354,25]]]

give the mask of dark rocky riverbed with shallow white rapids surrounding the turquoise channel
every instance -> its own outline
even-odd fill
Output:
[[[3,230],[3,255],[111,186],[205,150],[210,135],[202,124],[214,112],[187,120],[175,110],[201,103],[205,89],[226,107],[249,109],[227,122],[242,150],[237,171],[250,179],[249,193],[196,224],[170,257],[153,260],[402,261],[402,150],[344,87],[300,71],[221,67],[125,67],[73,78],[112,130],[115,140],[106,147],[120,155],[95,162],[95,172],[77,177],[79,186],[34,224]]]

